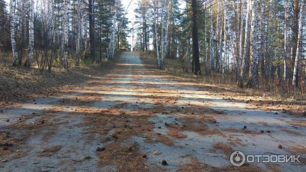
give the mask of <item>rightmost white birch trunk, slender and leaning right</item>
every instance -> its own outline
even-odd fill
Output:
[[[297,37],[297,47],[296,47],[296,56],[295,56],[295,62],[294,62],[294,69],[293,69],[293,79],[292,79],[292,85],[294,87],[297,86],[297,75],[298,75],[298,61],[300,57],[300,48],[301,48],[301,39],[302,39],[302,20],[303,20],[303,7],[305,5],[305,2],[301,2],[300,4],[300,14],[299,14],[299,21],[298,21],[298,37]],[[293,57],[292,57],[293,58]]]

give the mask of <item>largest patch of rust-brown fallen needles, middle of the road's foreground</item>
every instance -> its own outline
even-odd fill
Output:
[[[106,150],[98,153],[101,165],[116,165],[117,171],[146,171],[145,159],[138,151],[137,144],[126,143],[132,136],[141,136],[147,142],[162,142],[173,145],[167,136],[152,131],[154,124],[148,121],[153,115],[143,115],[141,108],[133,112],[124,111],[127,104],[122,103],[112,108],[85,110],[84,126],[92,125],[90,132],[107,135],[101,141]]]

